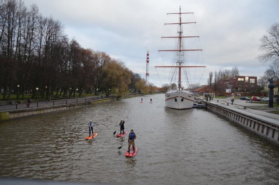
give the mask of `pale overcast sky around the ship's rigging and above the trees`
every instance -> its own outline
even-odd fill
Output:
[[[210,71],[232,69],[241,76],[262,76],[269,63],[256,59],[259,39],[279,22],[278,0],[25,0],[43,16],[64,24],[65,33],[83,48],[104,51],[145,78],[150,51],[149,82],[161,87],[154,66],[167,13],[194,12],[203,49],[207,84]]]

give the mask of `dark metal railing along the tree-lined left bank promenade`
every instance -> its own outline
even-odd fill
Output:
[[[115,95],[110,95],[108,98],[114,98]],[[85,98],[77,98],[77,99],[63,99],[63,100],[51,100],[51,101],[33,101],[29,104],[29,106],[24,103],[15,102],[15,104],[2,104],[0,105],[0,111],[5,110],[16,110],[16,109],[28,109],[34,107],[45,107],[45,106],[55,106],[55,105],[67,105],[67,104],[76,104],[82,102],[88,102],[93,100],[105,99],[106,97],[96,96],[96,97],[85,97]]]

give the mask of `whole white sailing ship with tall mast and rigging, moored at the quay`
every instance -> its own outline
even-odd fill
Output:
[[[172,57],[169,57],[169,59],[171,60],[171,65],[155,66],[156,71],[157,68],[169,68],[170,75],[169,75],[169,81],[166,83],[168,87],[168,91],[165,94],[165,105],[168,108],[178,109],[178,110],[193,108],[194,95],[189,90],[191,86],[190,78],[193,77],[191,76],[191,70],[194,69],[194,71],[196,71],[199,68],[206,67],[206,66],[197,65],[200,64],[199,62],[200,60],[198,60],[198,58],[202,56],[201,54],[202,49],[197,48],[200,47],[199,36],[196,35],[197,33],[195,35],[187,35],[187,36],[183,35],[184,30],[189,32],[189,34],[192,34],[192,30],[193,30],[193,26],[190,26],[190,28],[185,29],[184,28],[185,25],[187,26],[193,24],[196,25],[196,22],[189,21],[190,19],[187,19],[188,21],[186,22],[182,21],[182,15],[186,15],[186,14],[187,15],[193,14],[193,12],[181,12],[181,8],[179,8],[178,13],[167,13],[167,15],[176,15],[177,17],[179,16],[177,22],[165,23],[165,26],[176,27],[175,28],[176,33],[174,33],[176,35],[167,35],[161,38],[162,40],[163,39],[175,40],[174,45],[172,45],[175,46],[175,49],[158,50],[159,53],[167,53],[167,54],[162,54],[164,63],[167,63],[167,61],[164,58],[169,57],[170,53],[172,53],[171,54]],[[174,28],[170,28],[170,29],[168,28],[167,30],[168,30],[167,34],[170,34],[171,32],[169,30],[174,30]],[[198,40],[197,42],[198,44],[196,44],[196,40]],[[164,46],[171,46],[171,44],[165,44]],[[183,82],[185,82],[184,83],[185,86],[182,85],[183,82],[182,82],[181,73],[183,73],[183,77],[184,77]],[[188,88],[186,86],[188,86]]]

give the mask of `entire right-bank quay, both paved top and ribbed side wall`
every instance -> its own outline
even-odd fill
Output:
[[[278,107],[269,108],[268,104],[231,98],[203,101],[206,109],[216,112],[262,138],[279,146],[279,115],[270,111],[279,110]]]

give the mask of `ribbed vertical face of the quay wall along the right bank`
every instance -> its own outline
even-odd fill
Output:
[[[203,104],[205,104],[206,109],[216,112],[234,123],[243,126],[249,131],[252,131],[276,145],[279,145],[279,126],[277,124],[271,123],[268,120],[257,118],[256,116],[253,116],[253,114],[248,115],[247,113],[228,109],[209,102],[203,102]]]

